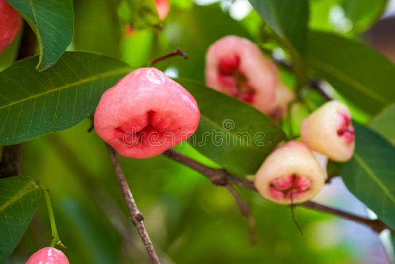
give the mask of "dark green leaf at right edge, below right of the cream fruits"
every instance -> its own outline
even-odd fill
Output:
[[[367,127],[354,126],[356,150],[341,164],[340,175],[350,192],[395,228],[395,148]]]

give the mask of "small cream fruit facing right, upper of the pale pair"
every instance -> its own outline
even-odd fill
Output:
[[[339,101],[325,103],[303,121],[300,137],[311,150],[334,161],[349,160],[355,148],[350,110]]]

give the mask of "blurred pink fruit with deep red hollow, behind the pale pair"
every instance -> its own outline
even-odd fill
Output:
[[[209,87],[237,97],[269,114],[276,99],[278,73],[251,41],[226,36],[206,53],[206,83]]]

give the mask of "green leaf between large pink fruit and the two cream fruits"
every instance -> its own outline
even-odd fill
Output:
[[[176,81],[195,97],[201,113],[189,143],[219,165],[238,174],[253,174],[286,139],[273,119],[249,104],[195,81]]]

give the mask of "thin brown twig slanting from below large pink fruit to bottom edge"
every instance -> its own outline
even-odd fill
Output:
[[[137,232],[139,233],[152,262],[155,264],[160,264],[157,253],[155,252],[154,246],[152,245],[151,239],[148,236],[147,230],[144,227],[144,217],[137,208],[137,204],[134,201],[133,194],[130,191],[129,185],[127,184],[126,178],[120,167],[117,154],[115,153],[114,148],[112,148],[110,145],[106,144],[106,146],[110,154],[111,162],[113,163],[119,185],[122,189],[123,197],[126,201],[127,208],[129,209],[130,218],[136,226]]]

